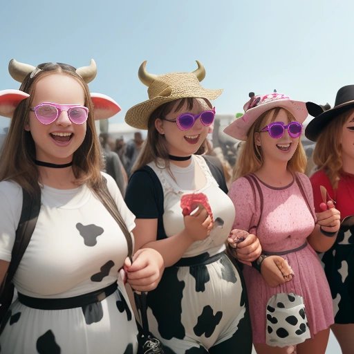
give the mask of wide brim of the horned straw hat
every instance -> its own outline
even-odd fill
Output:
[[[157,96],[151,98],[151,100],[136,104],[127,111],[125,122],[137,129],[147,129],[147,122],[149,121],[151,113],[162,104],[187,97],[215,100],[222,92],[223,90],[208,90],[202,87],[196,90],[194,87],[189,88],[187,86],[184,91],[172,92],[168,97]]]

